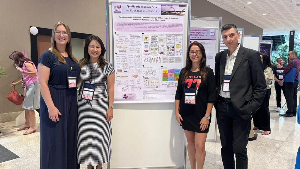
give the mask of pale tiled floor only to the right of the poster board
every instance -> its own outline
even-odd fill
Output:
[[[295,168],[296,155],[300,146],[300,125],[296,118],[281,117],[276,111],[276,94],[272,87],[270,98],[271,134],[261,135],[262,131],[254,131],[258,134],[257,140],[249,141],[248,169],[293,169]],[[299,98],[299,93],[298,93]],[[283,94],[281,103],[286,103]],[[284,114],[281,109],[280,114]],[[217,142],[206,142],[205,169],[223,168],[221,159],[221,143],[219,134]],[[187,158],[188,159],[188,158]],[[187,169],[190,169],[190,162],[187,160]]]

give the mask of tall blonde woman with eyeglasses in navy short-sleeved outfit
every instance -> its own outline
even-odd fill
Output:
[[[41,88],[41,169],[80,168],[77,154],[78,61],[72,54],[69,27],[54,25],[51,48],[38,60]]]

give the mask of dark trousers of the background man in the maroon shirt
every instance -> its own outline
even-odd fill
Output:
[[[297,112],[297,88],[298,88],[298,80],[295,80],[295,83],[292,82],[284,82],[285,89],[285,100],[287,111],[286,114],[296,114]]]

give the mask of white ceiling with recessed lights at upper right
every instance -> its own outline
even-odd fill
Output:
[[[263,29],[263,36],[300,34],[300,0],[207,0]],[[247,4],[247,2],[252,2]],[[266,15],[262,15],[266,13]],[[276,23],[273,23],[273,22]],[[284,27],[284,28],[282,28]]]

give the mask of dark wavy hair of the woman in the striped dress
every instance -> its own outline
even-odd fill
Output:
[[[80,65],[80,67],[82,67],[83,65],[85,65],[86,63],[89,62],[90,55],[88,54],[88,45],[90,45],[92,40],[97,41],[101,46],[101,54],[100,54],[100,57],[98,59],[98,63],[99,63],[99,68],[104,67],[105,64],[106,64],[105,60],[104,60],[104,54],[105,54],[106,50],[105,50],[105,47],[104,47],[104,44],[103,44],[102,40],[96,35],[90,35],[85,39],[84,57],[83,57],[83,59],[79,60],[79,65]]]

